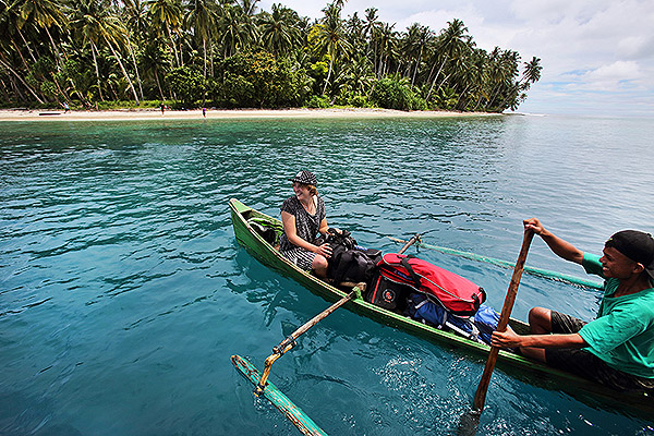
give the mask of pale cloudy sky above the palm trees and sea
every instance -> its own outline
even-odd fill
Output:
[[[262,0],[319,19],[326,0]],[[654,118],[654,0],[347,0],[342,16],[377,8],[404,32],[462,20],[476,46],[541,58],[541,81],[519,112]]]

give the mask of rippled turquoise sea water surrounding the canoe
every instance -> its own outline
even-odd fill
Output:
[[[0,123],[0,434],[294,435],[231,365],[329,304],[237,244],[228,201],[278,216],[310,169],[360,244],[425,242],[514,261],[523,218],[600,253],[654,232],[652,120],[465,119]],[[413,250],[415,253],[415,250]],[[501,307],[511,270],[421,251]],[[583,277],[535,239],[528,265]],[[593,318],[597,291],[524,276],[513,316]],[[332,435],[446,435],[484,359],[347,310],[270,380]],[[653,435],[613,410],[496,371],[480,434]]]

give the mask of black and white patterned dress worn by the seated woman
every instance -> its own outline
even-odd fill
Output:
[[[295,232],[298,237],[311,242],[312,244],[316,241],[316,237],[318,235],[320,221],[323,221],[327,215],[323,198],[319,196],[314,198],[317,199],[315,202],[315,215],[307,213],[304,207],[302,207],[302,204],[298,197],[294,195],[287,198],[281,205],[281,211],[289,213],[295,217]],[[281,233],[281,238],[279,240],[279,253],[306,271],[311,270],[311,264],[316,256],[315,253],[292,244],[287,238],[286,232]]]

